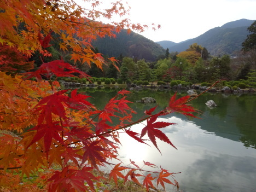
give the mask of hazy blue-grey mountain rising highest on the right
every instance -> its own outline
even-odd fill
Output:
[[[185,40],[184,42],[168,46],[170,52],[185,51],[189,45],[197,43],[205,47],[213,56],[233,55],[242,48],[242,42],[247,38],[247,28],[252,25],[254,20],[241,19],[215,27],[201,34],[201,36]],[[165,44],[157,42],[164,47]]]

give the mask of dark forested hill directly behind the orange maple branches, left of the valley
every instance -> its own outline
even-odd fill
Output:
[[[98,38],[92,42],[92,45],[100,53],[109,57],[118,57],[122,54],[123,56],[153,62],[159,55],[165,55],[166,50],[161,45],[143,37],[141,34],[135,32],[127,34],[127,30],[122,30],[120,33],[116,33],[116,36],[116,38]]]

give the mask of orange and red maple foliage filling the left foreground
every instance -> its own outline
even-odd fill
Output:
[[[146,110],[144,118],[133,122],[132,115],[136,112],[126,99],[129,91],[119,91],[103,109],[97,109],[87,101],[89,96],[77,90],[61,90],[53,79],[53,75],[74,77],[74,74],[88,78],[87,74],[62,60],[43,62],[44,56],[49,56],[45,48],[53,40],[59,42],[60,49],[69,51],[75,62],[88,65],[93,62],[102,68],[105,61],[101,54],[92,51],[93,39],[114,37],[113,32],[124,27],[143,31],[147,26],[130,24],[127,19],[111,25],[97,21],[100,17],[110,19],[113,14],[126,15],[128,10],[119,1],[104,11],[96,10],[98,1],[85,1],[91,6],[88,9],[72,0],[0,2],[0,52],[9,49],[0,55],[5,58],[0,63],[0,191],[96,191],[102,182],[113,179],[117,183],[118,178],[133,181],[147,190],[155,188],[154,180],[164,189],[165,183],[178,187],[174,173],[150,162],[144,161],[144,166],[139,167],[132,160],[129,165],[112,164],[111,160],[119,161],[121,133],[145,144],[147,135],[159,152],[156,138],[176,148],[161,131],[172,123],[158,121],[158,117],[173,112],[192,115],[195,110],[185,104],[189,96],[176,100],[174,95],[166,109]],[[53,38],[54,33],[58,39]],[[40,52],[42,65],[36,71],[27,71],[32,67],[26,59],[34,51]],[[8,56],[10,53],[16,56]],[[22,70],[27,72],[17,74],[14,64],[23,66]],[[113,119],[118,123],[113,123],[116,122]],[[142,124],[141,133],[130,130],[142,121],[146,125]],[[106,165],[112,166],[107,176],[94,174]],[[155,170],[148,171],[146,167]],[[31,175],[36,175],[33,182],[22,182],[24,176]]]

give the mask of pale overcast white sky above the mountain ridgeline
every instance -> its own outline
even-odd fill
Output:
[[[256,0],[129,0],[130,18],[161,29],[139,33],[153,40],[179,43],[239,19],[256,20]]]

